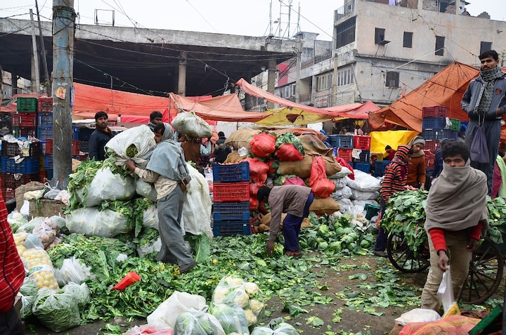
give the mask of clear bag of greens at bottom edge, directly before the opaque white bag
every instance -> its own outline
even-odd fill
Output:
[[[226,335],[216,317],[202,310],[181,313],[174,325],[174,335]]]

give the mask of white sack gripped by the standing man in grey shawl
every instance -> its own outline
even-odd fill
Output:
[[[131,145],[136,147],[137,153],[129,157],[127,153],[130,151],[129,147]],[[145,169],[153,150],[155,150],[156,142],[153,131],[145,124],[142,124],[117,134],[109,140],[105,147],[115,152],[117,156],[115,164],[117,166],[125,166],[125,162],[131,159],[136,163],[136,166]]]

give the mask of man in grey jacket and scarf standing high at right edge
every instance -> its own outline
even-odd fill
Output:
[[[488,147],[487,163],[471,162],[487,176],[488,195],[492,192],[493,168],[498,155],[502,115],[506,113],[506,77],[499,66],[499,55],[489,50],[479,55],[480,74],[472,79],[462,96],[460,107],[469,115],[465,143],[469,150],[477,127],[484,125]]]

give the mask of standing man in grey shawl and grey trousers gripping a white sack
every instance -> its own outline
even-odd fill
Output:
[[[196,265],[190,251],[186,249],[181,230],[181,206],[184,192],[190,183],[190,173],[181,147],[172,140],[174,131],[170,124],[157,124],[153,131],[157,146],[146,169],[139,169],[133,161],[127,161],[126,166],[144,181],[155,184],[162,240],[157,260],[176,263],[179,272],[184,273]]]

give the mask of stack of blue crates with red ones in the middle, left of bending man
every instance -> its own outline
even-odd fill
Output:
[[[249,235],[249,164],[212,164],[214,236]]]

